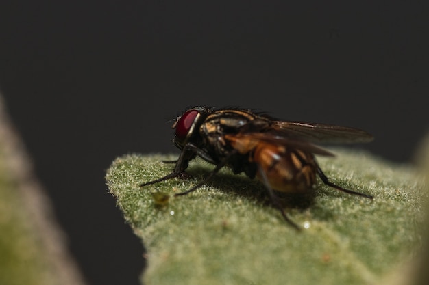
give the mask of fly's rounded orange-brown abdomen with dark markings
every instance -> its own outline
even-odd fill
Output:
[[[264,172],[266,182],[276,191],[304,192],[315,184],[316,166],[312,154],[264,143],[256,146],[253,160],[259,165],[258,179],[264,181],[260,171]]]

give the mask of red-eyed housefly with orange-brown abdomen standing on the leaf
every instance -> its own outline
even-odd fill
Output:
[[[181,150],[173,172],[147,186],[185,174],[189,161],[201,157],[215,169],[190,189],[176,193],[186,195],[204,185],[223,167],[234,174],[244,172],[258,178],[267,189],[273,206],[295,228],[298,226],[284,213],[278,192],[306,193],[314,189],[317,176],[326,185],[345,193],[372,199],[373,196],[352,191],[330,182],[319,167],[315,154],[333,156],[314,143],[360,143],[373,139],[357,128],[282,121],[266,113],[248,109],[192,107],[178,116],[173,126],[173,143]]]

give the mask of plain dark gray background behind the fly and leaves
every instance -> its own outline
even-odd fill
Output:
[[[428,1],[1,1],[0,88],[90,284],[143,249],[103,176],[175,152],[189,105],[363,128],[409,162],[428,130]]]

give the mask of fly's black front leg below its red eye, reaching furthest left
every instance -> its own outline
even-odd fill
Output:
[[[168,174],[164,177],[158,178],[156,180],[153,181],[149,181],[146,183],[142,183],[140,184],[140,187],[144,187],[147,185],[152,185],[158,182],[162,182],[165,180],[169,180],[171,178],[175,178],[177,176],[181,176],[182,174],[185,174],[186,176],[186,168],[188,168],[188,163],[191,159],[193,159],[195,157],[195,155],[198,155],[199,157],[203,157],[204,159],[210,159],[210,157],[208,157],[208,154],[206,154],[206,152],[204,152],[203,150],[197,148],[197,146],[195,146],[194,144],[186,144],[182,150],[182,152],[180,152],[180,156],[177,159],[177,161],[166,161],[167,163],[175,163],[175,167],[173,169],[173,172],[171,172],[171,174]]]

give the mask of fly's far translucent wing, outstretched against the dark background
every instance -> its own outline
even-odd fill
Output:
[[[290,139],[323,143],[363,143],[373,136],[358,128],[310,122],[273,121],[269,133]]]

